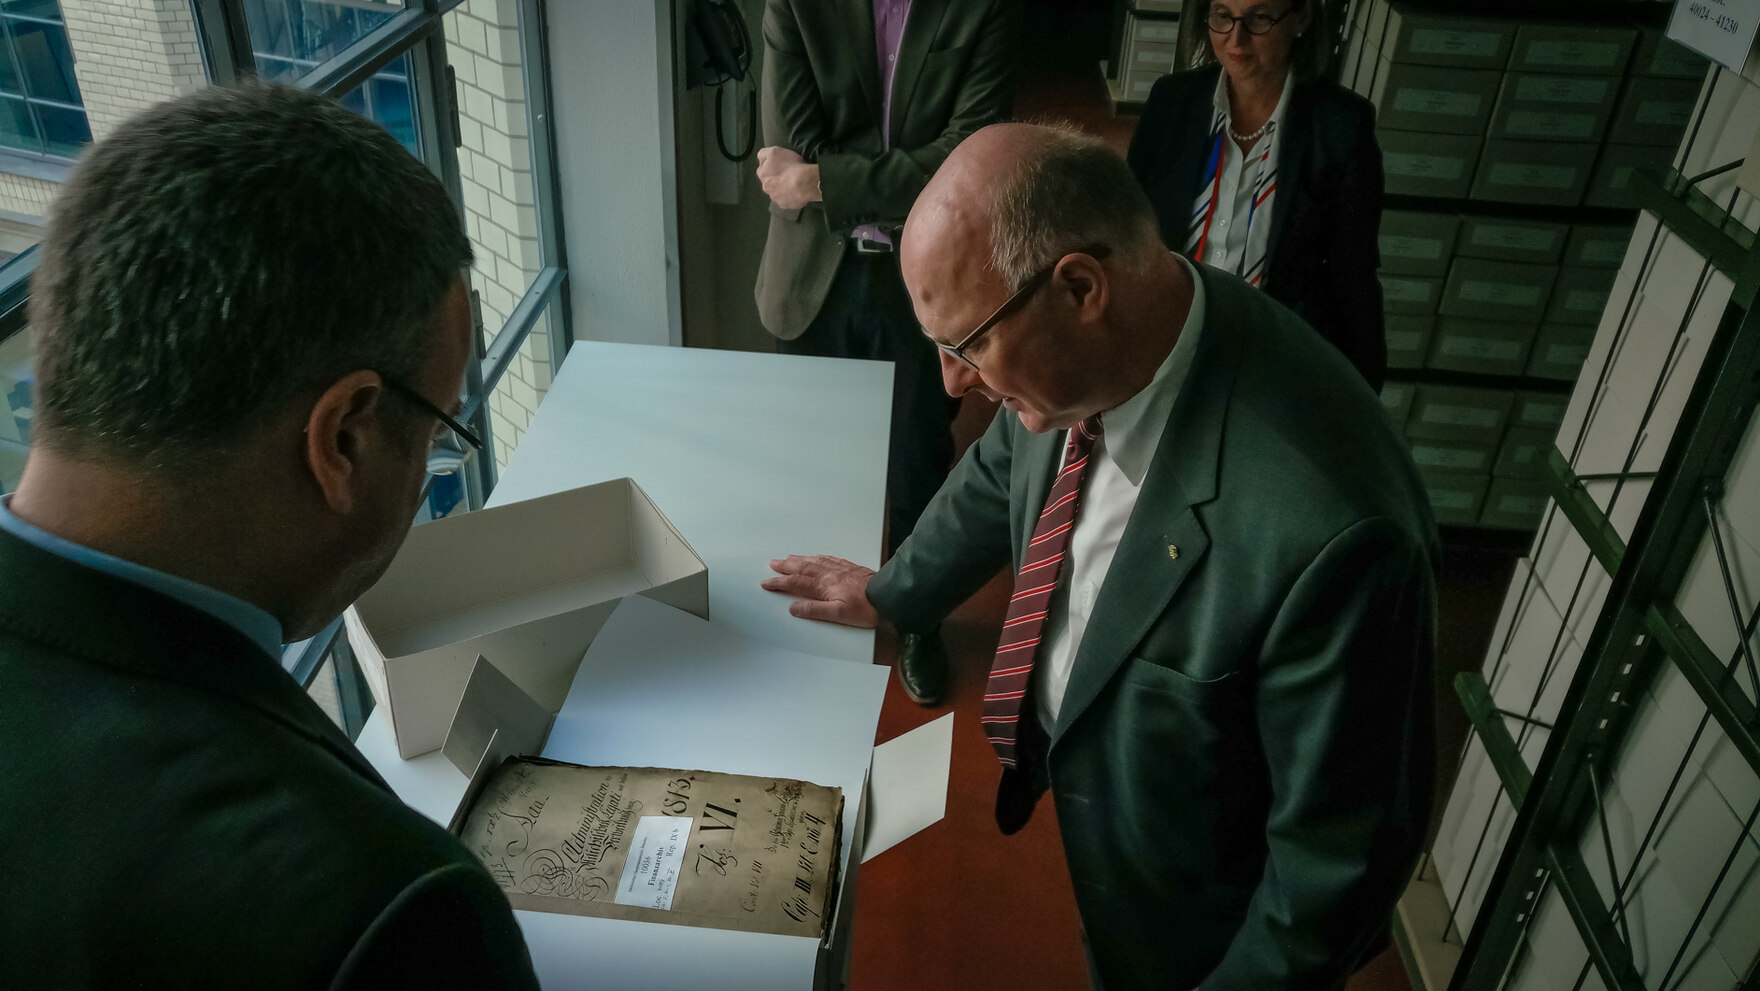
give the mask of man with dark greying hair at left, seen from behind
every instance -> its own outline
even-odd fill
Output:
[[[421,162],[289,88],[148,109],[63,187],[0,502],[0,987],[537,986],[280,669],[463,433],[468,264]]]

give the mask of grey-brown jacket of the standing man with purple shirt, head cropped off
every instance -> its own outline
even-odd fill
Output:
[[[880,134],[873,0],[764,4],[764,144],[818,164],[824,202],[771,204],[755,297],[764,327],[801,336],[864,224],[899,227],[947,153],[1008,116],[1016,0],[913,0]]]

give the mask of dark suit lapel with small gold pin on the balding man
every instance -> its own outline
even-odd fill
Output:
[[[1216,470],[1228,394],[1234,389],[1234,349],[1227,333],[1237,306],[1234,283],[1204,278],[1206,315],[1199,354],[1162,429],[1137,507],[1125,525],[1112,567],[1100,586],[1088,632],[1075,651],[1070,683],[1051,743],[1093,704],[1149,627],[1167,611],[1186,576],[1209,551],[1209,535],[1193,507],[1216,498]],[[1239,283],[1246,289],[1246,283]],[[1250,290],[1251,292],[1251,290]]]

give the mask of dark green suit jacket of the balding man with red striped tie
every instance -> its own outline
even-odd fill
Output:
[[[1327,987],[1387,924],[1427,824],[1436,532],[1343,357],[1200,273],[1199,350],[1049,783],[1105,987]],[[1019,562],[1060,445],[998,412],[869,584],[880,613],[926,628]]]

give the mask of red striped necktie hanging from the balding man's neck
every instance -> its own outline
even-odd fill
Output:
[[[1084,419],[1070,431],[1063,451],[1063,470],[1045,496],[1033,537],[1021,554],[1021,572],[1014,577],[1014,597],[1001,621],[1001,641],[996,644],[996,662],[991,665],[989,685],[984,690],[984,732],[1003,767],[1016,767],[1016,739],[1021,730],[1021,708],[1026,701],[1038,655],[1040,630],[1051,607],[1051,593],[1058,588],[1063,554],[1075,530],[1075,510],[1081,507],[1082,473],[1088,472],[1088,452],[1100,437],[1100,417]],[[1031,715],[1028,715],[1031,718]],[[1019,755],[1023,759],[1030,755]]]

